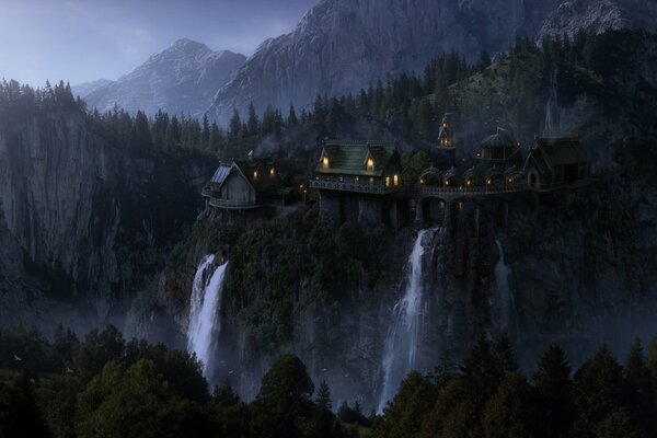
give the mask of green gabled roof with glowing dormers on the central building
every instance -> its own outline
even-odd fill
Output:
[[[328,157],[328,169],[322,166],[322,158]],[[374,170],[366,169],[366,160],[374,159]],[[323,149],[315,172],[320,174],[339,174],[357,176],[382,176],[390,163],[400,157],[394,146],[373,142],[337,142],[327,141]]]

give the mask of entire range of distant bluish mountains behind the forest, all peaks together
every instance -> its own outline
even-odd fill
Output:
[[[131,73],[74,87],[90,107],[162,108],[227,124],[250,103],[310,108],[318,93],[343,95],[402,72],[420,73],[454,49],[469,61],[509,48],[518,36],[574,35],[631,25],[657,27],[652,0],[321,0],[290,33],[246,59],[183,38]]]

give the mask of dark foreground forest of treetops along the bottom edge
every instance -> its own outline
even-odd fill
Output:
[[[482,336],[457,362],[411,372],[381,415],[334,405],[325,382],[284,355],[254,401],[208,389],[194,355],[126,341],[114,326],[79,339],[59,327],[0,333],[2,437],[574,437],[657,433],[657,337],[624,364],[606,347],[574,371],[550,345],[528,377],[506,336]],[[336,414],[334,413],[336,412]]]

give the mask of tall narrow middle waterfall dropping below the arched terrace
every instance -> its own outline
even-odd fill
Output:
[[[419,344],[420,321],[423,318],[423,255],[425,245],[431,242],[435,229],[422,230],[417,234],[408,257],[408,278],[404,296],[392,310],[392,325],[385,339],[383,351],[383,391],[379,400],[379,413],[394,396],[397,387],[406,374],[416,367]],[[428,241],[428,242],[427,242]]]

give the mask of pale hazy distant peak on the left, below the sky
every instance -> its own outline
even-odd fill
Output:
[[[152,115],[162,108],[198,116],[245,59],[229,50],[212,51],[200,43],[178,39],[84,100],[101,112],[118,105],[130,113],[140,110]]]

